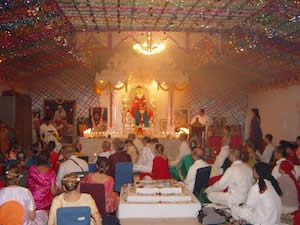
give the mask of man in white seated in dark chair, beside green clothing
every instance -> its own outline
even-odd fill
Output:
[[[204,151],[201,148],[196,148],[193,152],[194,164],[190,167],[189,172],[184,180],[184,186],[190,191],[194,191],[197,170],[208,167],[209,165],[204,161]]]

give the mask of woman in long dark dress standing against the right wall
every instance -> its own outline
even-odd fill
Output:
[[[259,110],[257,108],[251,109],[251,123],[250,123],[250,131],[249,131],[249,139],[251,139],[256,147],[256,149],[260,152],[260,154],[264,151],[264,140],[263,134],[261,131],[261,118],[259,115]]]

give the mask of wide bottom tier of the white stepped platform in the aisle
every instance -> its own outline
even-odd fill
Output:
[[[187,202],[127,202],[128,186],[123,186],[120,195],[118,217],[126,218],[196,218],[201,203],[190,193],[192,200]]]

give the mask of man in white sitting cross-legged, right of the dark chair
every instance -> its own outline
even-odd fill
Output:
[[[232,165],[222,178],[205,190],[211,202],[227,207],[244,203],[253,185],[252,170],[241,161],[241,151],[230,150],[229,159]],[[228,192],[222,192],[225,188]]]

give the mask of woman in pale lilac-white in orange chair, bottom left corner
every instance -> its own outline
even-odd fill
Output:
[[[12,164],[7,167],[7,187],[0,190],[0,206],[9,201],[17,201],[24,207],[23,225],[46,224],[48,220],[45,210],[36,210],[36,205],[30,190],[18,186],[21,177],[21,169]],[[14,211],[11,213],[15,213]]]

